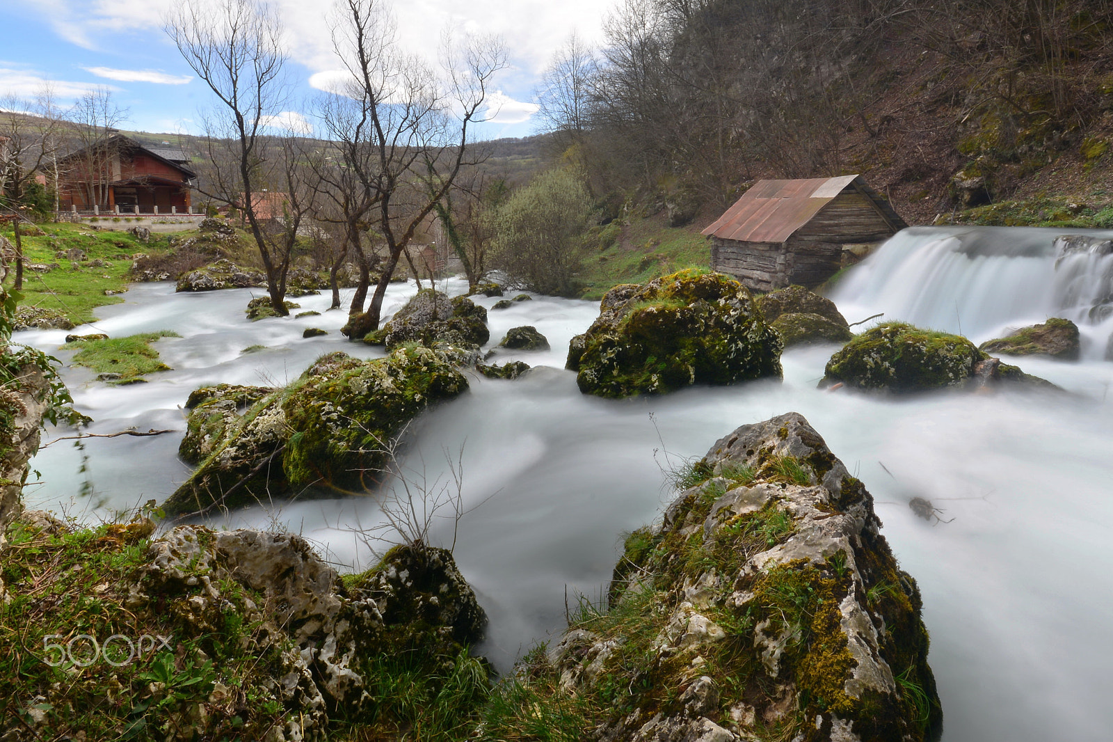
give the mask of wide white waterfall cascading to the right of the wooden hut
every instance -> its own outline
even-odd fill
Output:
[[[850,322],[884,312],[976,343],[1065,318],[1083,358],[1113,360],[1113,232],[913,227],[848,271],[831,299]]]

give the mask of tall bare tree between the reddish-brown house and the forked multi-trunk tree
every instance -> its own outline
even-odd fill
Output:
[[[266,168],[273,165],[266,129],[278,120],[288,90],[278,17],[257,0],[220,0],[216,9],[186,0],[169,16],[166,32],[219,101],[207,120],[216,187],[206,195],[244,214],[267,274],[270,306],[279,315],[289,314],[283,302],[289,253],[284,252],[285,243],[267,238],[258,214]]]

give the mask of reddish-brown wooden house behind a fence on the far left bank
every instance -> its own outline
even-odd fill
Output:
[[[140,214],[188,213],[197,174],[189,156],[151,148],[122,135],[70,153],[58,162],[62,208]]]

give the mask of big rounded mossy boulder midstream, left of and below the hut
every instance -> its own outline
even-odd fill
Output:
[[[599,319],[572,339],[567,368],[580,391],[618,398],[779,378],[780,351],[742,284],[681,271],[607,292]]]

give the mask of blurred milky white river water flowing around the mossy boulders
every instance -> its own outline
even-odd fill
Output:
[[[954,230],[902,233],[849,272],[837,296],[840,307],[850,321],[886,311],[886,319],[951,328],[947,312],[957,302],[963,329],[977,340],[998,326],[1055,315],[1051,307],[1060,294],[1046,284],[1055,280],[1050,244],[1057,233],[1020,231],[1003,247],[992,231],[966,232],[973,235],[966,240],[979,243],[967,253],[939,246],[953,245],[947,241],[956,238]],[[999,254],[1017,240],[1038,254]],[[983,276],[985,265],[998,260],[996,281]],[[1023,261],[1032,260],[1042,261],[1042,282],[1028,275]],[[933,271],[949,271],[949,281],[967,290],[933,279],[932,300],[923,287]],[[1021,285],[998,285],[1008,282]],[[972,296],[971,286],[981,293]],[[387,309],[413,290],[392,286]],[[158,342],[175,371],[125,388],[91,382],[83,370],[65,371],[78,404],[98,420],[93,432],[132,424],[184,429],[178,406],[201,383],[284,382],[326,351],[378,352],[344,342],[335,332],[345,319],[341,312],[250,323],[243,314],[246,290],[171,292],[168,284],[135,286],[127,304],[101,311],[97,328],[114,335],[176,330],[183,339]],[[986,292],[993,296],[985,299]],[[301,311],[327,306],[325,296],[297,301]],[[490,307],[495,300],[479,301]],[[890,400],[817,390],[834,350],[826,346],[787,352],[784,382],[609,401],[580,394],[574,374],[561,370],[569,339],[597,313],[593,303],[540,296],[492,311],[492,344],[511,326],[533,324],[553,346],[506,353],[498,362],[553,368],[516,381],[473,377],[470,392],[421,419],[410,449],[410,465],[424,460],[435,478],[446,470],[443,449],[456,456],[463,448],[464,499],[475,509],[459,524],[455,554],[491,616],[483,648],[501,667],[562,627],[565,588],[570,602],[575,592],[598,595],[620,534],[652,520],[671,499],[657,466],[667,465],[662,446],[673,462],[701,456],[739,424],[795,410],[857,470],[877,500],[883,533],[919,582],[944,739],[1109,739],[1113,400],[1106,391],[1113,363],[1020,361],[1025,371],[1075,392],[1070,397],[1013,391]],[[303,340],[305,326],[333,334]],[[28,332],[17,340],[55,351],[62,334]],[[252,344],[270,349],[242,355]],[[165,497],[188,473],[175,456],[179,440],[89,440],[93,498],[110,508]],[[89,507],[89,498],[77,496],[86,476],[78,473],[80,463],[81,451],[67,442],[42,451],[35,466],[45,485],[29,492],[31,505]],[[930,499],[943,519],[953,520],[932,525],[916,518],[907,507],[914,496]],[[377,507],[374,495],[305,500],[234,512],[213,525],[265,527],[277,519],[327,549],[329,558],[365,567],[370,555],[347,528],[376,523]],[[440,524],[435,537],[450,543],[452,530],[450,523]]]

